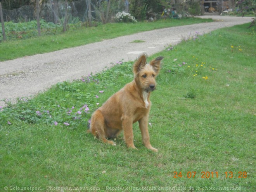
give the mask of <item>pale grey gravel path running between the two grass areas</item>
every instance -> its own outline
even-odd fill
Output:
[[[0,62],[0,100],[12,102],[17,97],[29,97],[44,91],[60,81],[79,79],[81,76],[102,71],[118,61],[133,61],[139,54],[152,55],[195,32],[209,33],[218,28],[251,22],[252,17],[200,16],[215,22],[157,29],[127,35],[80,47],[22,57]],[[143,40],[142,43],[131,43]],[[0,106],[5,106],[0,101]]]

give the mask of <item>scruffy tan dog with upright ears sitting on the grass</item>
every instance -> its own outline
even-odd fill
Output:
[[[163,57],[157,57],[147,64],[146,56],[141,55],[133,66],[134,80],[112,95],[92,114],[88,131],[104,143],[116,145],[107,138],[115,138],[124,130],[127,146],[136,149],[133,144],[133,123],[138,121],[145,147],[157,152],[149,142],[149,96],[156,89],[155,78],[162,59]]]

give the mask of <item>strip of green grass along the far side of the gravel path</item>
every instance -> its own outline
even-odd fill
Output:
[[[101,24],[97,27],[70,29],[66,33],[57,35],[45,35],[24,40],[10,40],[0,43],[0,61],[100,42],[105,39],[142,31],[211,21],[212,19],[190,18],[159,20],[157,22],[108,23],[105,25]]]

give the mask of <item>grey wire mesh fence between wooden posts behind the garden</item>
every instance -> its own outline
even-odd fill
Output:
[[[40,18],[47,22],[61,23],[65,17],[66,9],[68,12],[69,21],[88,21],[89,0],[78,0],[68,2],[67,7],[65,1],[48,0],[40,3]],[[123,0],[111,1],[111,6],[107,10],[108,1],[100,3],[90,3],[92,19],[94,21],[106,20],[108,12],[109,19],[113,19],[118,12],[124,11],[126,3]],[[3,9],[3,20],[13,22],[28,22],[36,19],[36,8],[34,5],[25,5],[19,9],[7,10]]]

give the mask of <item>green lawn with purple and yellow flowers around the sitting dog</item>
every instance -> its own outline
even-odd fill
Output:
[[[137,123],[133,131],[138,150],[127,149],[121,138],[114,147],[86,133],[92,112],[132,80],[131,62],[59,83],[3,108],[0,190],[254,192],[256,28],[247,26],[197,36],[149,58],[164,56],[149,117],[150,141],[158,153],[144,147]],[[88,113],[86,107],[80,110],[85,104]],[[79,110],[81,115],[76,114]]]

